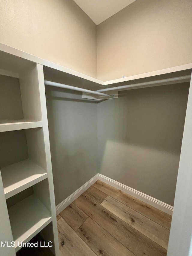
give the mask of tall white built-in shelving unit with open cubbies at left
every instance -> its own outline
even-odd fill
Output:
[[[0,51],[1,256],[40,232],[59,256],[43,66]],[[1,231],[2,233],[2,231]]]

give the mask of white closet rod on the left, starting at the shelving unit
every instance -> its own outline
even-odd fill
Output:
[[[51,85],[51,86],[55,86],[55,87],[61,87],[61,88],[64,88],[64,89],[70,89],[70,90],[74,90],[74,91],[86,92],[86,93],[96,94],[96,95],[99,95],[99,96],[105,96],[105,97],[113,98],[113,95],[105,94],[105,93],[102,93],[102,92],[95,92],[95,91],[91,91],[91,90],[87,90],[87,89],[83,89],[83,88],[79,88],[79,87],[75,87],[75,86],[70,86],[70,85],[67,85],[67,84],[55,83],[55,82],[46,81],[46,80],[44,80],[44,83],[45,83],[45,85]]]

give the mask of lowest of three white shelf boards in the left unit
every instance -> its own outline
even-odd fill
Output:
[[[32,194],[24,200],[8,208],[15,250],[21,242],[29,242],[52,220],[50,212],[41,201]]]

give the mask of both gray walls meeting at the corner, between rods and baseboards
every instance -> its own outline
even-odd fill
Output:
[[[46,86],[56,205],[95,174],[173,205],[189,84],[86,101]]]

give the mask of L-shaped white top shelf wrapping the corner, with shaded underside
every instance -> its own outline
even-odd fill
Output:
[[[84,89],[98,90],[106,87],[121,86],[128,82],[139,82],[139,80],[145,80],[151,78],[152,80],[164,79],[166,74],[173,74],[173,77],[177,76],[178,71],[185,71],[192,69],[192,63],[180,65],[171,68],[165,68],[157,71],[151,71],[143,74],[136,74],[133,76],[128,76],[125,78],[114,79],[110,81],[101,81],[96,78],[87,76],[85,74],[79,73],[72,69],[63,67],[61,65],[49,62],[47,60],[41,59],[37,56],[33,56],[29,53],[25,53],[21,50],[14,49],[10,46],[0,43],[0,59],[2,60],[2,67],[0,64],[0,69],[4,68],[9,70],[10,63],[12,71],[18,72],[27,66],[29,63],[39,63],[44,66],[44,78],[45,80],[50,80],[57,83],[64,83],[71,86],[81,87]],[[138,81],[137,81],[138,80]],[[145,82],[145,81],[143,81]]]

